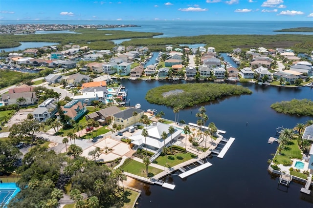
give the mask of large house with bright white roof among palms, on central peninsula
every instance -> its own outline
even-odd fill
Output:
[[[146,127],[148,136],[143,137],[141,135],[142,129],[138,130],[136,133],[134,133],[129,139],[131,139],[132,143],[135,145],[134,149],[142,148],[145,149],[147,147],[148,151],[156,152],[158,150],[161,150],[165,146],[167,146],[171,141],[175,141],[180,137],[180,134],[182,133],[181,128],[175,128],[174,127],[174,133],[170,134],[168,124],[163,124],[160,122],[154,122],[152,125],[149,125]],[[162,133],[166,132],[167,138],[165,140],[162,139]],[[164,142],[165,141],[165,142]]]

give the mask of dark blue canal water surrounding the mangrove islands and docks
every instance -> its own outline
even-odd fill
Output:
[[[127,99],[131,105],[139,103],[144,110],[154,108],[158,112],[164,111],[166,119],[175,120],[171,107],[149,104],[144,99],[149,89],[173,82],[121,80],[121,83],[128,89]],[[136,188],[143,191],[139,208],[313,207],[308,202],[313,198],[300,193],[304,185],[292,182],[289,188],[278,186],[278,178],[271,176],[267,170],[267,161],[278,146],[267,141],[271,136],[277,137],[276,128],[293,128],[297,123],[313,119],[277,113],[270,105],[291,99],[312,99],[313,89],[251,83],[243,85],[253,93],[218,99],[179,112],[179,120],[196,123],[195,115],[203,105],[209,117],[207,125],[213,122],[226,131],[225,138],[236,138],[224,159],[208,159],[212,166],[183,180],[176,175],[166,177],[165,181],[176,185],[173,191],[157,185],[137,183]]]

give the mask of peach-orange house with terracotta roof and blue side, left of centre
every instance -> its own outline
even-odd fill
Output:
[[[82,117],[86,111],[86,104],[80,102],[78,100],[72,100],[68,102],[66,105],[61,106],[64,115],[67,115],[70,119],[77,121],[80,117]],[[57,118],[59,117],[59,113],[56,113]]]

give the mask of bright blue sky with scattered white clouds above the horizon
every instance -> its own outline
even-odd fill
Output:
[[[313,21],[313,0],[0,0],[7,20]]]

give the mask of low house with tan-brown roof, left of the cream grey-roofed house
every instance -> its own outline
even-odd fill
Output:
[[[86,115],[86,120],[93,119],[93,121],[99,122],[100,125],[107,125],[110,124],[112,121],[112,115],[115,113],[120,112],[121,109],[119,109],[116,105],[112,105],[110,107],[101,109],[99,111],[96,111],[94,113],[90,113]]]

